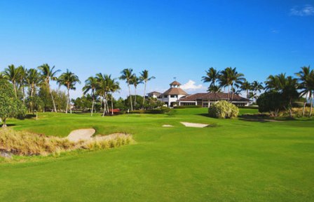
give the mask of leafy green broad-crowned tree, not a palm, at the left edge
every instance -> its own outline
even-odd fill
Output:
[[[25,107],[16,98],[13,85],[7,80],[0,80],[0,118],[4,122],[2,127],[6,127],[6,120],[10,117],[25,115]]]

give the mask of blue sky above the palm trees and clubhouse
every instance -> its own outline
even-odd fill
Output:
[[[188,92],[211,66],[247,80],[314,67],[314,1],[0,1],[0,71],[48,63],[83,82],[149,70],[148,90],[176,77]],[[78,85],[73,96],[81,96]],[[127,94],[121,81],[121,96]],[[139,87],[139,92],[142,87]],[[142,92],[141,92],[142,93]],[[117,94],[116,96],[119,96]]]

